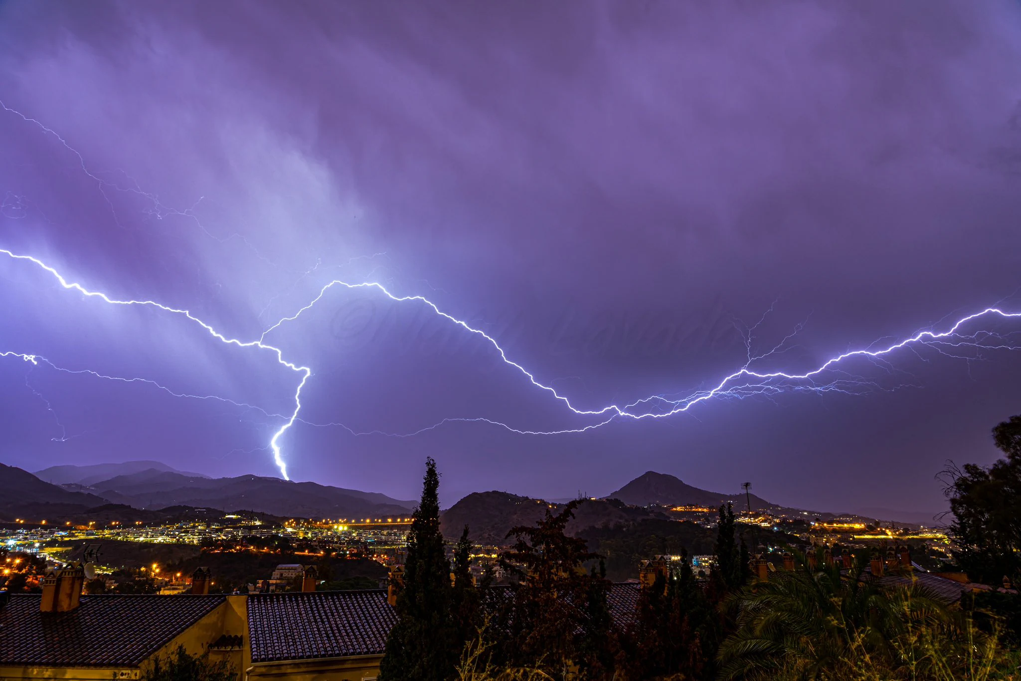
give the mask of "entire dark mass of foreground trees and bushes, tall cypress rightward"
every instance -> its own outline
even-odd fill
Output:
[[[956,557],[973,580],[999,585],[1006,576],[1017,585],[1021,416],[994,428],[993,438],[1006,459],[952,471]],[[820,569],[798,555],[797,570],[745,585],[748,551],[728,507],[720,508],[708,583],[682,561],[643,590],[630,625],[610,617],[601,556],[565,534],[571,504],[512,531],[516,544],[501,556],[516,578],[508,589],[470,586],[467,533],[451,584],[437,484],[430,460],[420,507],[427,513],[411,537],[425,565],[407,573],[425,579],[408,579],[418,586],[407,591],[419,595],[398,599],[404,626],[387,646],[381,676],[388,681],[1021,681],[1021,596],[986,591],[947,604],[917,581],[876,583],[863,575],[867,560],[841,574],[821,555]],[[599,568],[586,572],[593,564]]]

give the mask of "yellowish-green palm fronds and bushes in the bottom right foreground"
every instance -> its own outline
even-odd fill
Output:
[[[1017,677],[998,632],[924,587],[881,587],[835,569],[799,570],[746,587],[730,605],[737,630],[720,647],[723,679]]]

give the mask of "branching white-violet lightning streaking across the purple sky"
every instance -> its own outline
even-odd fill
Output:
[[[52,136],[64,148],[66,148],[69,152],[75,154],[85,175],[97,183],[99,191],[106,200],[106,203],[109,205],[110,211],[113,214],[114,222],[118,226],[120,224],[117,221],[117,215],[113,203],[106,193],[107,189],[113,189],[115,191],[120,191],[120,192],[131,192],[144,197],[151,204],[151,207],[146,212],[150,215],[154,215],[157,220],[162,220],[167,215],[179,215],[193,220],[195,224],[202,230],[202,232],[204,232],[207,236],[215,239],[216,241],[220,241],[221,243],[234,238],[240,239],[245,243],[246,246],[251,248],[260,259],[270,262],[270,260],[266,260],[266,258],[264,258],[260,253],[258,253],[258,251],[255,250],[254,246],[252,246],[252,244],[249,243],[248,240],[245,239],[243,236],[239,234],[232,234],[226,238],[220,238],[211,234],[208,230],[206,230],[206,228],[199,222],[198,217],[195,214],[195,208],[198,205],[198,203],[202,200],[201,198],[199,198],[199,200],[196,201],[195,204],[192,205],[191,207],[186,208],[184,210],[180,210],[163,205],[155,194],[143,191],[139,187],[137,182],[135,182],[130,176],[128,176],[123,172],[121,175],[124,175],[124,177],[130,181],[129,186],[124,187],[117,183],[109,182],[108,180],[103,179],[100,175],[97,175],[92,169],[90,169],[89,165],[86,163],[85,157],[76,148],[74,148],[63,137],[61,137],[56,131],[54,131],[51,128],[48,128],[40,120],[34,117],[28,116],[15,109],[9,108],[6,104],[4,104],[3,101],[0,101],[0,108],[9,113],[19,116],[23,121],[28,124],[36,126],[45,135]],[[10,218],[23,217],[26,211],[26,204],[27,201],[25,197],[8,193],[4,197],[2,204],[0,204],[0,213]],[[536,378],[536,376],[533,373],[529,372],[527,369],[525,369],[523,364],[510,359],[507,356],[504,349],[496,341],[496,339],[490,336],[489,334],[485,333],[481,329],[475,328],[470,324],[468,324],[467,322],[457,319],[454,315],[442,310],[436,303],[434,303],[429,298],[426,298],[425,296],[396,294],[391,292],[386,286],[378,282],[349,283],[341,280],[333,280],[327,283],[325,286],[323,286],[320,289],[319,294],[307,304],[300,307],[296,312],[288,317],[284,317],[279,321],[277,321],[276,323],[269,326],[265,329],[265,331],[261,333],[261,335],[257,340],[242,341],[236,338],[228,337],[227,335],[221,333],[212,325],[195,317],[188,309],[167,306],[162,303],[156,302],[154,300],[115,299],[108,296],[105,293],[93,291],[81,284],[68,281],[56,269],[45,263],[39,258],[33,257],[31,255],[14,253],[10,250],[6,250],[3,248],[0,248],[0,253],[6,255],[8,258],[11,258],[15,261],[30,262],[36,265],[37,267],[43,270],[44,272],[52,276],[64,289],[77,291],[84,297],[96,298],[110,305],[155,307],[169,314],[184,317],[189,322],[200,326],[211,337],[227,345],[237,346],[240,348],[254,348],[258,350],[269,351],[270,353],[272,353],[279,364],[283,366],[284,368],[286,368],[287,370],[298,376],[298,382],[295,387],[294,397],[293,397],[294,408],[289,414],[283,414],[283,415],[271,414],[270,411],[266,411],[261,407],[248,404],[246,402],[238,402],[216,395],[195,395],[195,394],[177,392],[167,386],[161,385],[149,379],[116,377],[116,376],[101,374],[91,370],[65,369],[55,364],[54,362],[50,361],[45,357],[36,354],[22,354],[14,351],[0,351],[0,357],[17,357],[22,359],[23,361],[31,363],[33,368],[39,366],[40,363],[45,363],[46,366],[55,371],[64,372],[68,374],[87,374],[99,379],[125,382],[125,383],[144,383],[152,385],[175,397],[224,401],[236,405],[238,407],[256,409],[261,414],[265,415],[266,417],[282,419],[284,423],[274,432],[269,443],[269,448],[273,452],[274,461],[280,469],[281,476],[285,479],[289,478],[287,475],[287,467],[283,458],[280,442],[281,438],[295,425],[295,423],[301,423],[315,427],[339,426],[346,429],[352,435],[357,435],[357,436],[382,435],[388,437],[412,437],[428,431],[433,431],[445,424],[452,424],[452,423],[482,423],[500,427],[510,432],[522,435],[558,435],[568,433],[585,433],[590,430],[594,430],[602,426],[605,426],[611,422],[619,419],[632,419],[636,421],[644,419],[665,419],[680,412],[686,412],[696,404],[713,399],[744,399],[746,397],[751,397],[751,396],[765,396],[770,398],[774,395],[787,391],[810,391],[815,393],[840,392],[846,394],[858,394],[863,390],[865,390],[866,388],[868,389],[878,388],[879,386],[876,383],[865,381],[864,379],[854,376],[847,373],[846,371],[840,369],[842,364],[855,358],[861,358],[868,361],[872,361],[877,366],[889,369],[891,366],[886,358],[888,355],[892,355],[893,353],[901,350],[912,351],[918,354],[919,346],[930,347],[940,352],[941,354],[950,357],[963,357],[966,359],[971,359],[972,355],[976,350],[991,351],[991,350],[1021,349],[1021,346],[1019,346],[1013,340],[1013,336],[1015,334],[1007,334],[1002,336],[1000,334],[990,331],[981,331],[981,330],[973,333],[965,333],[966,326],[982,318],[1000,318],[1002,320],[1013,320],[1021,318],[1021,312],[1008,311],[1001,309],[1000,307],[993,306],[963,317],[957,320],[957,322],[947,327],[944,331],[937,332],[934,331],[933,329],[926,329],[919,331],[910,337],[904,338],[896,342],[887,343],[878,348],[876,347],[876,344],[872,344],[863,349],[849,350],[843,353],[833,355],[830,358],[826,359],[821,364],[819,364],[818,367],[816,367],[815,369],[811,369],[804,373],[787,373],[781,371],[763,372],[752,369],[752,364],[761,363],[770,357],[774,357],[775,355],[781,354],[791,349],[791,346],[788,345],[788,342],[800,331],[800,329],[804,326],[804,323],[796,326],[791,334],[784,337],[778,344],[776,344],[769,351],[758,355],[753,354],[752,341],[755,339],[755,332],[765,322],[766,317],[769,315],[770,312],[772,312],[773,306],[771,305],[770,309],[766,311],[766,313],[758,323],[756,323],[750,327],[741,327],[738,329],[738,331],[741,333],[742,338],[744,339],[744,344],[747,351],[745,361],[736,371],[732,372],[727,376],[724,376],[718,383],[712,385],[710,388],[696,390],[689,393],[683,393],[680,394],[680,396],[650,395],[624,405],[609,404],[600,408],[581,408],[579,406],[576,406],[571,401],[571,399],[569,399],[566,395],[558,392],[552,386],[551,382],[549,383],[540,382]],[[368,256],[368,257],[369,259],[372,259],[377,255],[381,254],[376,254],[374,256]],[[272,262],[270,263],[273,264]],[[333,266],[340,266],[340,265],[333,265]],[[291,288],[288,289],[288,292],[290,290],[293,290],[293,288],[297,286],[299,282],[303,281],[305,278],[310,276],[318,267],[319,263],[317,263],[315,266],[311,267],[305,273],[301,274],[299,278],[294,282],[294,284],[291,285]],[[434,289],[431,285],[429,285],[428,282],[426,282],[426,284],[432,290],[434,291],[437,290]],[[505,364],[515,369],[518,373],[523,375],[532,384],[532,386],[547,393],[554,400],[558,401],[564,407],[566,407],[568,411],[576,416],[593,417],[595,418],[595,422],[578,428],[566,428],[561,430],[541,431],[541,430],[519,429],[512,427],[500,421],[488,418],[481,418],[481,417],[449,418],[449,419],[443,419],[442,421],[432,426],[421,428],[416,431],[407,433],[388,433],[378,430],[355,431],[349,428],[348,426],[345,426],[344,424],[339,424],[339,423],[319,424],[300,419],[299,414],[302,407],[301,393],[302,389],[305,387],[308,379],[311,376],[311,369],[308,367],[299,366],[295,362],[286,359],[284,357],[284,351],[280,347],[276,345],[271,345],[269,342],[266,342],[266,337],[273,332],[280,329],[282,326],[298,320],[302,313],[312,308],[317,303],[323,300],[324,297],[328,294],[328,292],[334,288],[345,289],[345,290],[364,289],[380,293],[389,300],[396,303],[418,303],[426,306],[434,314],[441,317],[447,322],[457,326],[465,333],[476,335],[481,340],[491,345],[492,349],[498,354],[500,359]],[[279,295],[283,295],[283,293],[278,294],[278,296],[275,296],[266,303],[266,306],[259,313],[258,315],[259,318],[262,318],[265,314],[269,307],[273,304],[276,298],[279,297]],[[921,357],[921,355],[919,356]],[[43,399],[43,401],[46,402],[48,410],[51,414],[53,414],[54,418],[56,418],[56,414],[53,412],[52,406],[50,405],[49,401],[46,400],[46,398],[43,397],[38,391],[32,388],[31,385],[29,385],[29,388],[33,390],[33,392],[37,396]],[[59,420],[57,420],[57,425],[60,426],[61,429],[63,429],[63,426],[60,424]]]

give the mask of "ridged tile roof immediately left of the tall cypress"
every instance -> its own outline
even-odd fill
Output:
[[[248,596],[253,663],[383,654],[396,622],[382,589]]]

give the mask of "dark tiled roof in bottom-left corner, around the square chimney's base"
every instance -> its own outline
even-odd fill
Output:
[[[69,613],[40,613],[38,594],[0,607],[0,665],[136,667],[224,602],[224,596],[82,596]]]

